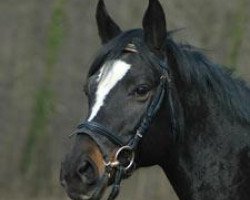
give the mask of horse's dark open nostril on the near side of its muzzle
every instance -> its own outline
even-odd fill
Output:
[[[77,174],[82,179],[83,183],[94,184],[96,180],[95,168],[90,161],[84,160],[77,169]]]

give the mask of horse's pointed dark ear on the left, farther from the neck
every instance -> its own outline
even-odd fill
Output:
[[[99,0],[96,9],[96,21],[99,36],[102,43],[105,44],[109,40],[119,35],[122,31],[119,26],[109,16],[103,0]]]

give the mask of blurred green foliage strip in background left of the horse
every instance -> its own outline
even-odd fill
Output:
[[[56,0],[51,15],[47,39],[47,62],[46,66],[44,67],[45,72],[42,83],[37,89],[37,92],[34,96],[34,106],[32,113],[33,117],[20,163],[22,174],[26,174],[31,165],[35,163],[32,162],[32,159],[34,156],[38,155],[32,154],[36,154],[36,151],[34,151],[34,149],[36,148],[37,144],[43,143],[43,145],[46,146],[46,143],[49,142],[46,137],[46,128],[49,118],[53,114],[55,104],[55,97],[54,92],[52,91],[51,81],[53,79],[55,64],[58,61],[60,47],[65,36],[64,5],[64,0]],[[41,166],[37,165],[36,167],[39,168]],[[48,181],[49,177],[51,176],[51,173],[49,173],[49,169],[47,169],[45,175],[47,177],[46,181]],[[39,177],[36,174],[33,174],[33,176],[35,179]]]

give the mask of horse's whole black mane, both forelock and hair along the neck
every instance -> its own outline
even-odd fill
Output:
[[[174,42],[171,35],[172,32],[168,34],[165,49],[175,58],[181,81],[201,94],[212,94],[222,107],[236,117],[235,119],[250,124],[250,89],[245,82],[233,78],[230,70],[211,62],[201,50]],[[136,46],[146,62],[155,62],[155,57],[143,42],[143,31],[135,29],[124,32],[104,45],[88,76],[95,73],[107,59],[119,58],[128,43]]]

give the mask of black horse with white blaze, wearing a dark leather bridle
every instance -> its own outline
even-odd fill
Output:
[[[100,199],[134,169],[159,165],[181,200],[250,199],[250,90],[200,50],[177,44],[158,0],[122,32],[97,6],[103,46],[60,180],[70,198]]]

